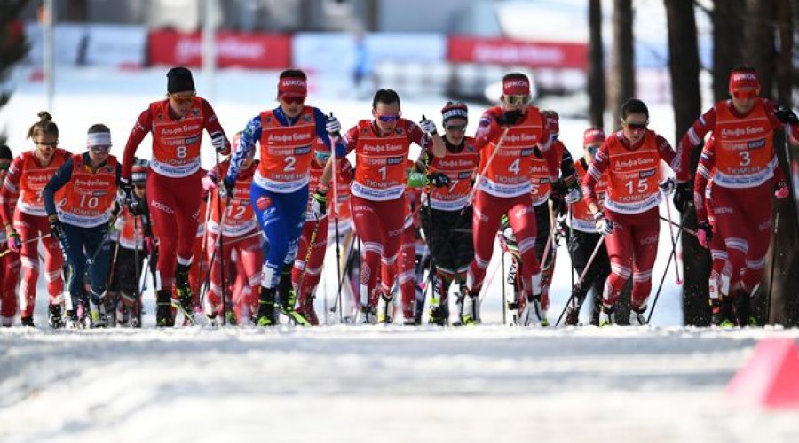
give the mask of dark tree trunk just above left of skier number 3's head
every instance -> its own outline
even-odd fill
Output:
[[[716,0],[713,3],[713,101],[730,97],[732,68],[741,64],[743,0]]]

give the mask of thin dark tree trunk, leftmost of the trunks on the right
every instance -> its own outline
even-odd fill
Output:
[[[605,128],[605,48],[602,44],[602,0],[589,0],[589,120]]]

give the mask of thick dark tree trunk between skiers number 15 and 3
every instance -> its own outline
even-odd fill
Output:
[[[699,43],[693,3],[684,0],[664,0],[668,23],[668,70],[671,74],[671,104],[674,107],[675,140],[679,141],[697,116],[701,114]],[[678,143],[678,142],[677,142]],[[691,156],[695,171],[700,150]],[[684,226],[696,226],[696,211],[689,209],[681,215]],[[685,324],[710,323],[708,307],[708,276],[710,254],[693,236],[682,236],[683,246],[683,314]]]

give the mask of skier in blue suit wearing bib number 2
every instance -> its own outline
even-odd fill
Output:
[[[341,128],[337,119],[326,123],[319,108],[305,105],[308,85],[304,72],[297,69],[283,71],[277,86],[279,105],[249,120],[223,181],[227,190],[233,190],[241,164],[258,143],[261,162],[249,195],[261,229],[269,241],[258,298],[257,323],[261,326],[277,323],[275,292],[279,284],[281,308],[297,323],[305,322],[294,310],[296,300],[291,291],[291,268],[297,257],[297,240],[305,224],[308,170],[317,137],[330,146],[326,126],[336,130]]]

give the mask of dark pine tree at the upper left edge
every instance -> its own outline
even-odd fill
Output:
[[[28,53],[28,42],[20,16],[28,0],[0,0],[0,84],[8,81],[12,68]],[[0,90],[0,108],[11,99],[11,92]],[[0,144],[5,135],[0,134]]]

